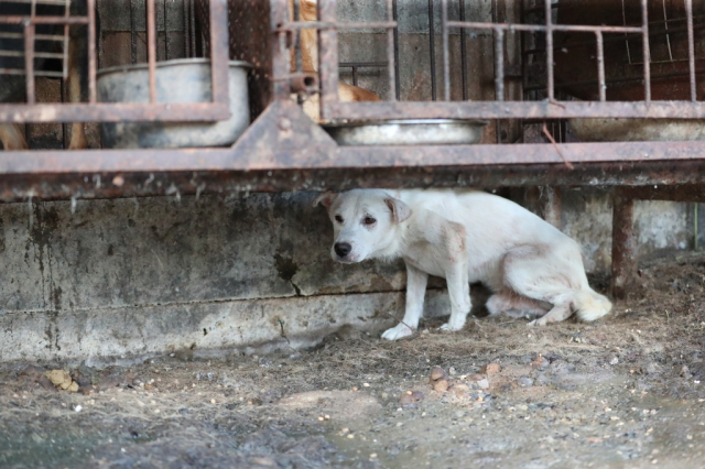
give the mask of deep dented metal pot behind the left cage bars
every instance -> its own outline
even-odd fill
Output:
[[[250,64],[229,63],[228,120],[215,122],[105,122],[100,124],[106,149],[175,149],[227,146],[250,123],[247,74]],[[105,68],[98,72],[100,102],[148,103],[150,98],[148,64]],[[186,58],[156,64],[156,100],[160,103],[212,101],[210,61]]]

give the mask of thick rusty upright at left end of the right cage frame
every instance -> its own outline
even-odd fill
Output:
[[[318,4],[318,21],[335,22],[337,1]],[[338,103],[338,32],[318,30],[318,69],[321,70],[321,117],[328,119],[329,109]]]

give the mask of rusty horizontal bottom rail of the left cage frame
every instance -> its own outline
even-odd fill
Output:
[[[227,119],[227,103],[195,102],[172,105],[142,103],[0,103],[0,122],[139,122],[196,121],[212,122]],[[4,153],[3,153],[4,154]]]

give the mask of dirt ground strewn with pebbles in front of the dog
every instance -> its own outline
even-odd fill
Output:
[[[594,324],[344,329],[308,351],[67,369],[76,393],[6,366],[0,467],[702,468],[705,255],[640,272],[643,291]]]

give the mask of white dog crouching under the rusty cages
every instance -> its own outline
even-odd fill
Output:
[[[560,321],[573,312],[594,320],[611,309],[587,284],[577,243],[505,198],[479,190],[356,189],[322,194],[314,200],[318,204],[333,221],[334,260],[402,258],[406,263],[406,312],[384,339],[416,329],[429,275],[447,281],[451,319],[444,330],[465,325],[473,282],[492,291],[487,301],[492,315],[543,315],[530,325]]]

